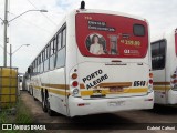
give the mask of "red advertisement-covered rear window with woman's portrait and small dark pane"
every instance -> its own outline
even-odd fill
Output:
[[[76,14],[76,43],[84,57],[145,58],[147,23],[142,20],[101,13]]]

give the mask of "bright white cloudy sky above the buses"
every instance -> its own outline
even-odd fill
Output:
[[[9,0],[8,20],[28,10],[31,11],[11,21],[8,27],[8,52],[12,44],[12,65],[24,73],[38,53],[44,48],[58,24],[72,9],[80,8],[81,0]],[[150,40],[177,28],[177,0],[85,0],[86,9],[119,11],[145,18],[149,22]],[[0,18],[4,18],[4,0],[0,0]],[[0,20],[0,23],[2,21]],[[9,54],[7,65],[9,66]],[[0,24],[0,66],[3,66],[3,24]]]

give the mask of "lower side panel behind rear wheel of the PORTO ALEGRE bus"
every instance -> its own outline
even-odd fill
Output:
[[[66,85],[65,85],[65,68],[61,68],[49,72],[50,84],[49,101],[51,109],[61,114],[67,115],[66,110]]]

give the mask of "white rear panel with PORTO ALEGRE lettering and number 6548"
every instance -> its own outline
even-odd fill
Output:
[[[100,94],[103,98],[145,95],[148,92],[148,65],[138,63],[83,62],[79,64],[81,96],[90,99]]]

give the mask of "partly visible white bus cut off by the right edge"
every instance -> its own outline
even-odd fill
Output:
[[[177,104],[177,30],[152,42],[155,103]]]

